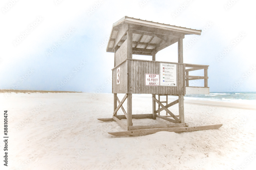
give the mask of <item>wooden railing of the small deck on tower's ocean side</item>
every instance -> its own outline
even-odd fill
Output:
[[[185,75],[185,80],[186,80],[186,87],[189,87],[189,80],[200,80],[204,79],[204,87],[208,87],[208,75],[207,75],[207,70],[208,67],[207,65],[198,65],[198,64],[185,64],[185,67],[189,67],[189,69],[185,69],[186,75]],[[195,71],[195,70],[201,70],[204,69],[204,76],[193,76],[189,75],[190,71]]]

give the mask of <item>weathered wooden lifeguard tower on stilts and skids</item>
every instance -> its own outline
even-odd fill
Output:
[[[124,128],[123,132],[109,132],[114,136],[145,135],[159,131],[185,132],[194,130],[219,128],[219,125],[187,127],[184,118],[185,94],[209,94],[207,84],[207,65],[183,63],[183,38],[185,35],[200,35],[201,30],[177,27],[169,24],[123,17],[112,27],[106,51],[115,54],[112,69],[114,94],[114,112],[112,118],[98,119],[101,121],[116,121]],[[178,63],[155,61],[156,53],[178,42]],[[152,56],[151,60],[138,60],[133,54]],[[204,70],[204,76],[189,75],[189,71]],[[204,87],[190,87],[189,80],[204,79]],[[125,94],[120,101],[117,94]],[[151,114],[132,114],[132,94],[152,94]],[[158,95],[158,99],[156,98]],[[168,95],[178,96],[178,99],[168,103]],[[160,96],[166,96],[166,101],[160,101]],[[127,111],[122,104],[127,100]],[[158,110],[156,110],[156,103]],[[166,103],[163,105],[162,103]],[[174,115],[168,108],[179,105],[179,115]],[[122,109],[124,115],[117,115]],[[160,115],[165,110],[166,114]],[[133,126],[132,119],[164,119],[169,124],[154,124]],[[124,124],[121,119],[127,119]]]

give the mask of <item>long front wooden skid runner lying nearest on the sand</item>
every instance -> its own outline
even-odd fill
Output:
[[[218,129],[222,124],[218,125],[208,125],[208,126],[193,126],[193,127],[167,127],[167,128],[155,128],[155,129],[140,129],[140,130],[128,130],[122,132],[108,132],[114,136],[128,136],[128,135],[148,135],[156,132],[167,131],[167,132],[187,132],[187,131],[197,131],[197,130],[208,130],[208,129]]]

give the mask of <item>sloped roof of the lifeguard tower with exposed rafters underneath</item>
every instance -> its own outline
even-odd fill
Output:
[[[168,47],[185,35],[201,35],[202,31],[125,16],[113,24],[107,52],[114,52],[126,40],[128,29],[133,32],[133,54],[140,55],[152,55],[153,50]]]

